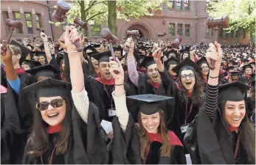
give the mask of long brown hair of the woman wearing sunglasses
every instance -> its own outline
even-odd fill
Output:
[[[64,154],[68,150],[69,135],[71,133],[71,100],[66,100],[66,116],[61,123],[61,131],[55,136],[54,145],[56,155]],[[34,122],[32,127],[31,144],[32,148],[29,152],[30,155],[39,156],[49,148],[49,134],[47,133],[47,127],[49,125],[44,122],[41,116],[41,112],[35,110]]]

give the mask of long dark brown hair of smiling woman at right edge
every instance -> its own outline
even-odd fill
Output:
[[[246,101],[245,101],[246,103]],[[222,116],[224,118],[224,111],[225,111],[226,101],[221,102],[221,111]],[[224,125],[228,125],[226,120],[224,120]],[[228,127],[226,127],[228,128]],[[247,163],[255,164],[255,129],[249,119],[247,114],[244,116],[241,124],[240,124],[240,131],[241,131],[241,143],[243,148],[246,150],[247,155]],[[229,131],[229,130],[228,130]]]

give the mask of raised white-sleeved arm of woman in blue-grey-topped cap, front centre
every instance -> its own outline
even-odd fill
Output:
[[[120,127],[122,128],[122,131],[125,132],[128,125],[129,114],[126,106],[124,89],[124,71],[119,59],[116,58],[117,62],[113,61],[113,57],[110,57],[109,59],[110,63],[112,64],[109,72],[112,74],[115,80],[115,90],[112,92],[114,105],[116,107],[116,113],[118,121],[120,122]]]

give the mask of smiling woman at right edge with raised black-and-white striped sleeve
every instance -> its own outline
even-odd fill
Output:
[[[255,133],[246,116],[248,86],[235,81],[218,87],[222,50],[216,42],[210,50],[207,62],[215,60],[215,70],[210,70],[205,106],[184,142],[193,164],[255,164]],[[192,136],[193,143],[187,140]]]

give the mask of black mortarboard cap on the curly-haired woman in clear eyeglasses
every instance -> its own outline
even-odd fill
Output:
[[[199,72],[201,67],[199,67],[195,62],[193,62],[190,58],[184,59],[179,63],[176,67],[173,67],[173,72],[179,74],[182,70],[195,70]]]

